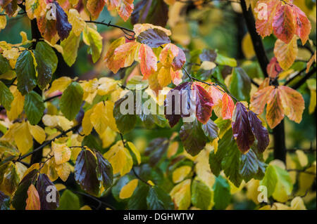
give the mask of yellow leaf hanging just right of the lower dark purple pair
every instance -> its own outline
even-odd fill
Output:
[[[120,173],[123,176],[132,169],[133,159],[121,140],[113,145],[104,157],[111,163],[113,174]]]

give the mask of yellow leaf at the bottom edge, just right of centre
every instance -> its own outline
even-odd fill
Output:
[[[173,187],[170,191],[170,197],[175,204],[175,209],[186,210],[191,203],[190,185],[192,180],[187,179]]]

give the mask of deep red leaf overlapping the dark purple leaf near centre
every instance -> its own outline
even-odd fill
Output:
[[[192,89],[196,94],[196,117],[202,124],[206,124],[211,117],[213,99],[209,93],[196,82],[193,84]]]

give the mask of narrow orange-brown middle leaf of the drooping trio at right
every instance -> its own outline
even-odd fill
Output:
[[[266,107],[266,121],[271,129],[280,124],[280,121],[284,118],[284,112],[282,109],[282,100],[280,97],[280,91],[278,88],[273,87],[273,91],[268,96],[268,106]],[[265,104],[265,103],[264,103]]]

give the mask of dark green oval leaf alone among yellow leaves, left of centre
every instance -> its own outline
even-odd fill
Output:
[[[61,112],[68,120],[73,120],[80,111],[83,95],[84,91],[82,86],[75,81],[63,92],[60,100]]]

